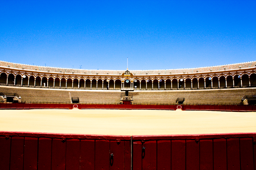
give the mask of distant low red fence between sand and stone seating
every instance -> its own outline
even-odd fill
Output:
[[[211,110],[211,111],[256,111],[249,105],[131,105],[131,104],[34,104],[0,103],[0,109],[143,109],[143,110]]]

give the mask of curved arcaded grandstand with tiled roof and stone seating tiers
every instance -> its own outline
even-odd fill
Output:
[[[129,90],[133,104],[170,104],[177,98],[239,104],[242,97],[256,94],[255,70],[256,61],[167,70],[85,70],[0,61],[0,92],[17,93],[23,102],[72,102],[79,97],[81,103],[119,104],[121,90]]]

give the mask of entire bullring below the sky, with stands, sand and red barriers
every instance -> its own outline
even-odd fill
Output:
[[[256,169],[255,69],[0,61],[0,169]]]

